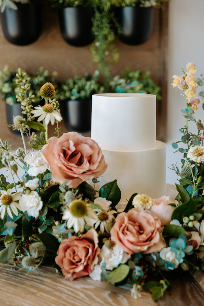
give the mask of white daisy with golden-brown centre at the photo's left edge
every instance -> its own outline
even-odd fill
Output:
[[[5,212],[7,211],[7,214],[9,217],[13,219],[12,212],[14,215],[18,216],[18,210],[19,208],[18,203],[16,201],[20,200],[21,198],[21,192],[14,192],[12,193],[11,189],[6,190],[1,190],[1,197],[0,197],[0,214],[1,218],[4,218]]]

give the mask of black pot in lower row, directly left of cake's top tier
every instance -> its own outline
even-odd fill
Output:
[[[61,108],[64,123],[69,131],[91,131],[91,100],[64,100]]]

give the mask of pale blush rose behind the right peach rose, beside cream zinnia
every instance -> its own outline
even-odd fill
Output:
[[[174,198],[169,196],[161,196],[161,198],[154,199],[154,205],[150,208],[155,216],[157,216],[161,221],[161,226],[167,225],[171,222],[171,215],[175,207],[172,207],[168,204],[174,203]]]

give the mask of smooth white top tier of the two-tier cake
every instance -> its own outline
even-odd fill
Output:
[[[156,96],[92,95],[91,138],[102,150],[141,150],[156,145]]]

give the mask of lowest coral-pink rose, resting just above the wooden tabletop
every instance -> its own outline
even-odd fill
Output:
[[[98,263],[98,234],[92,229],[80,237],[64,239],[57,251],[55,262],[68,281],[91,273]]]

